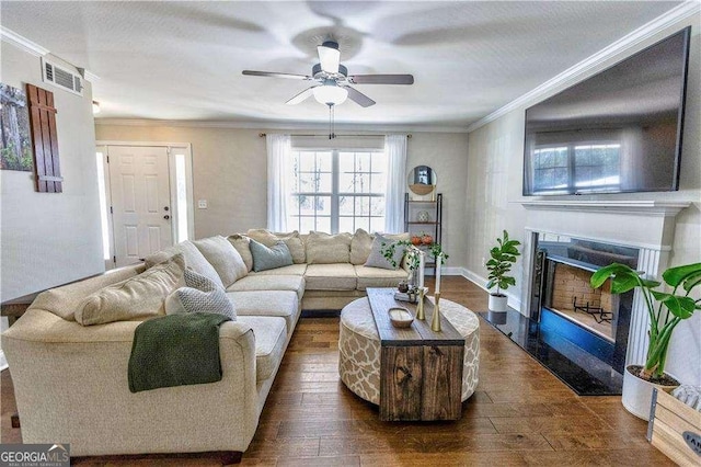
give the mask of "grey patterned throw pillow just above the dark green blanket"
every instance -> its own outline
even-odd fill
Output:
[[[218,284],[195,271],[185,270],[185,285],[165,299],[166,315],[214,312],[237,319],[237,310],[227,293]]]

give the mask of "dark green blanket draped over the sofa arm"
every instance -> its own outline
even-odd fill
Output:
[[[140,323],[129,357],[129,390],[220,381],[219,326],[229,320],[193,312]]]

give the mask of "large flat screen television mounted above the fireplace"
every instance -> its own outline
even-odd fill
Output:
[[[690,32],[526,110],[524,195],[679,190]]]

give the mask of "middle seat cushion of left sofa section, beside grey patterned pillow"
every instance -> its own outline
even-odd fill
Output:
[[[299,318],[299,298],[292,291],[227,292],[238,316],[277,316],[285,318],[291,334]]]

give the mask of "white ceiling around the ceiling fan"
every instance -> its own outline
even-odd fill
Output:
[[[337,123],[464,127],[680,2],[237,1],[0,2],[2,26],[100,77],[100,117],[321,123],[307,81],[315,45],[341,43],[349,75],[412,73],[414,86],[356,86]]]

